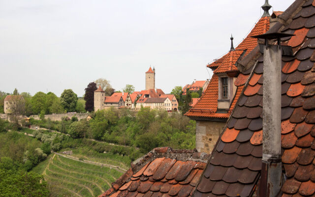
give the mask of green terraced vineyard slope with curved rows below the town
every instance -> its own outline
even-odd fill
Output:
[[[117,168],[87,164],[54,154],[42,174],[58,196],[97,197],[123,172]]]

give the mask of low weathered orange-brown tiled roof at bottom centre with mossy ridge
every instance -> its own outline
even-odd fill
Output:
[[[190,197],[208,158],[193,150],[155,148],[99,197]]]

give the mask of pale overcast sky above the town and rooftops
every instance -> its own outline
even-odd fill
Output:
[[[284,11],[294,0],[269,0]],[[212,75],[206,64],[237,45],[264,0],[0,0],[0,91],[79,97],[97,78],[116,90],[170,93]]]

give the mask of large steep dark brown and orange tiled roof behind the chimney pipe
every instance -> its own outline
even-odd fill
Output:
[[[296,35],[282,39],[282,45],[292,46],[294,53],[294,57],[282,57],[281,146],[286,176],[282,197],[315,194],[315,0],[304,2],[296,0],[279,16],[288,25],[283,27],[278,22],[270,31],[278,32],[283,27],[282,32]],[[300,9],[291,21],[292,12]],[[248,80],[239,75],[235,82],[246,87],[198,183],[196,197],[248,197],[259,188],[263,55],[243,74],[252,70]]]

